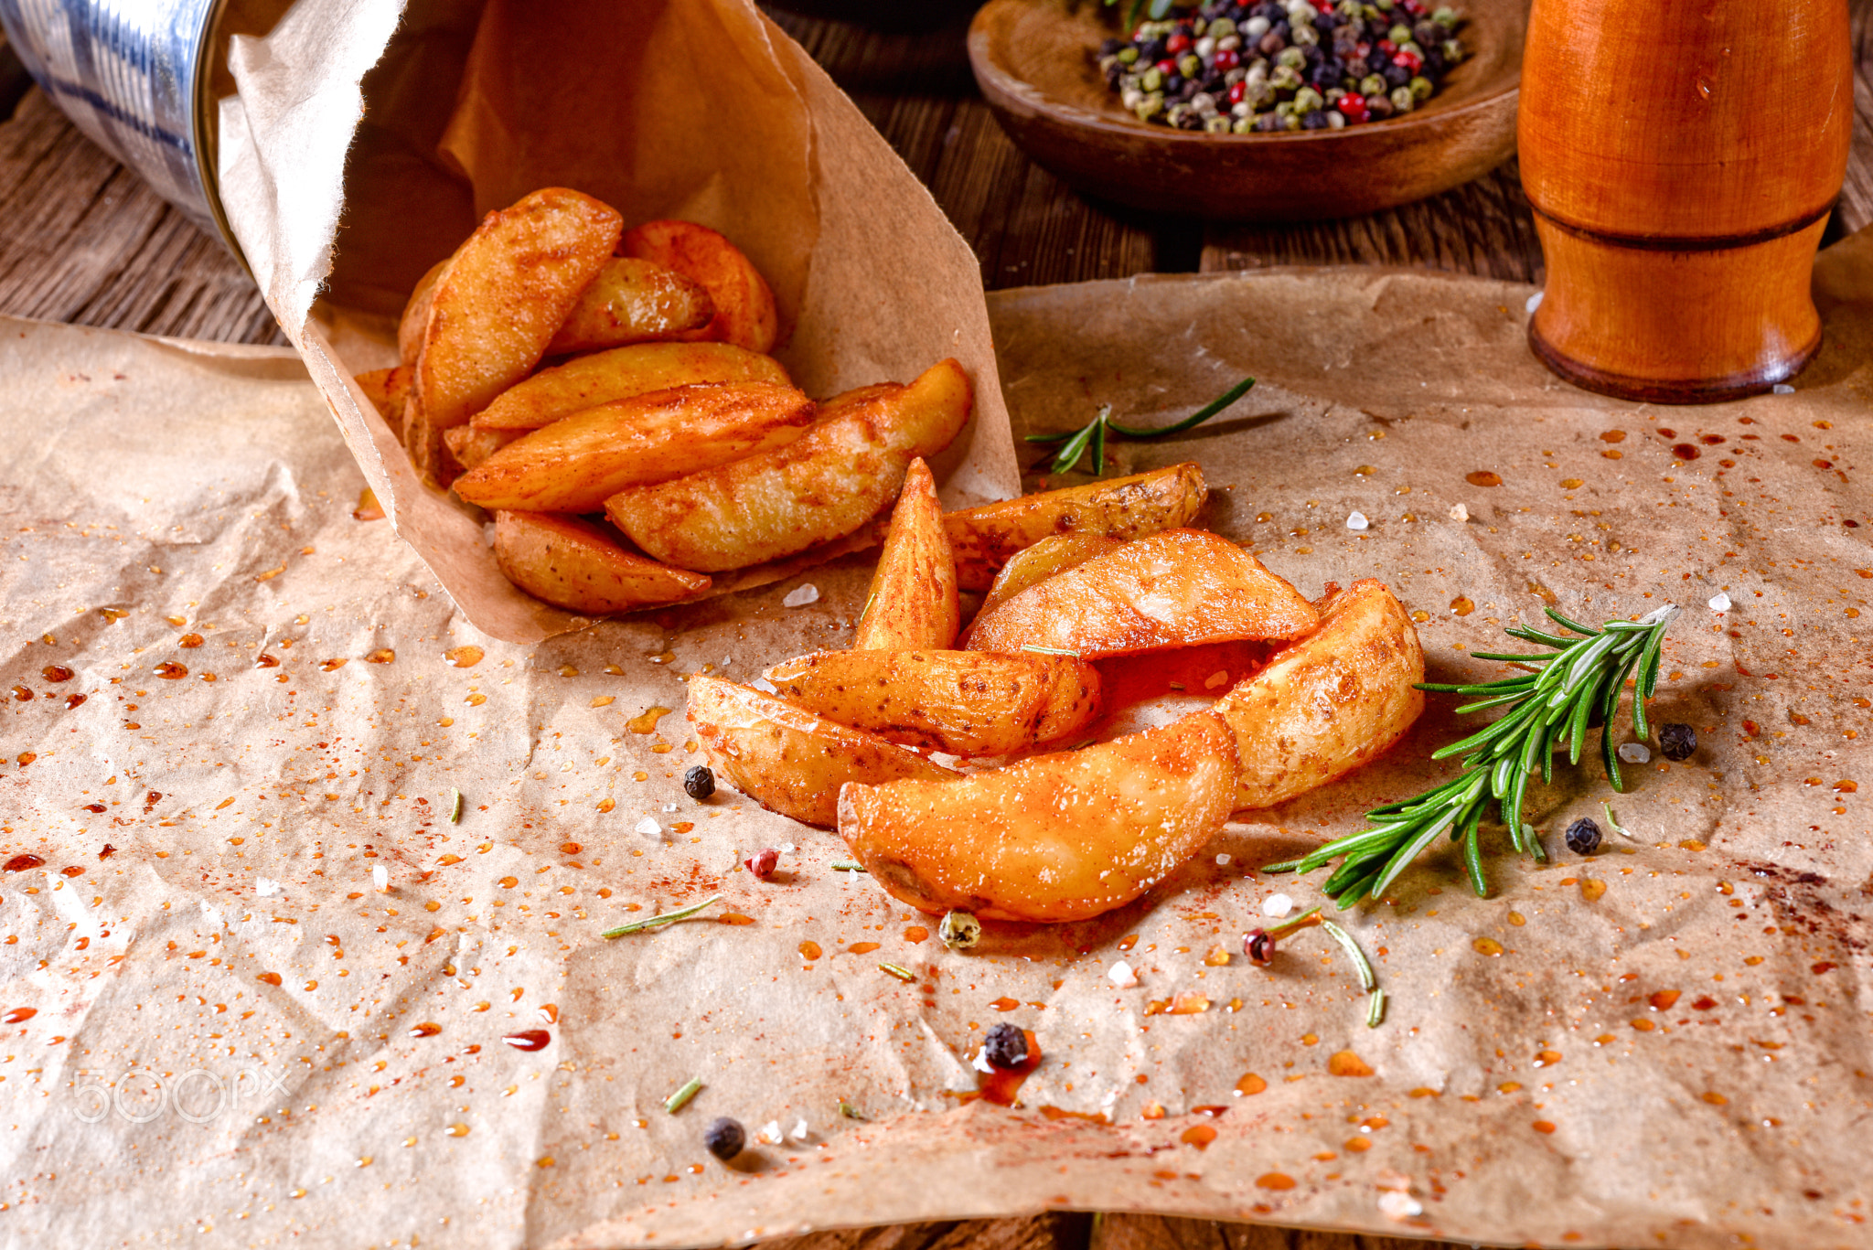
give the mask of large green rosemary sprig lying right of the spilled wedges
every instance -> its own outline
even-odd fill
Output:
[[[1399,873],[1418,858],[1438,834],[1450,832],[1463,843],[1463,868],[1478,898],[1489,894],[1483,875],[1483,853],[1478,828],[1491,800],[1497,815],[1510,830],[1517,853],[1547,858],[1532,826],[1523,825],[1523,798],[1530,778],[1540,770],[1541,781],[1555,776],[1555,748],[1568,746],[1568,763],[1581,763],[1586,725],[1600,720],[1600,759],[1615,791],[1624,791],[1620,759],[1613,744],[1613,716],[1620,707],[1626,678],[1633,677],[1633,733],[1648,737],[1644,705],[1658,688],[1659,645],[1676,605],[1667,603],[1639,620],[1609,620],[1603,628],[1568,620],[1553,607],[1547,615],[1555,624],[1577,633],[1562,637],[1510,626],[1504,633],[1525,643],[1547,647],[1547,654],[1485,654],[1478,660],[1502,660],[1519,665],[1541,665],[1519,677],[1482,684],[1422,684],[1420,690],[1467,695],[1470,703],[1457,708],[1480,712],[1508,708],[1498,720],[1461,742],[1440,748],[1433,759],[1463,755],[1463,772],[1414,798],[1373,808],[1365,813],[1367,828],[1339,838],[1307,856],[1287,864],[1270,864],[1264,871],[1315,871],[1339,860],[1339,868],[1320,890],[1341,907],[1362,898],[1379,898]]]

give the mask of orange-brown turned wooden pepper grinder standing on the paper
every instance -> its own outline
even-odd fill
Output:
[[[1794,377],[1821,347],[1807,279],[1852,116],[1847,0],[1534,0],[1536,356],[1654,403]]]

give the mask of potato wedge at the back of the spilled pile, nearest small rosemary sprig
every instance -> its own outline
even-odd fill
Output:
[[[955,549],[955,577],[965,590],[987,590],[1017,553],[1049,534],[1144,538],[1197,519],[1210,487],[1197,465],[1041,491],[951,512],[944,517]]]

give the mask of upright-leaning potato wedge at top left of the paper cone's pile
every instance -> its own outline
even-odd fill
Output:
[[[491,212],[429,298],[406,446],[433,472],[442,431],[463,425],[526,377],[611,257],[624,229],[590,195],[547,187]]]

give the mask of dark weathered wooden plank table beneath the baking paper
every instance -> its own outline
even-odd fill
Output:
[[[1854,148],[1822,246],[1873,221],[1873,0],[1854,0]],[[890,36],[779,7],[775,21],[858,101],[976,249],[989,289],[1247,270],[1401,264],[1541,281],[1515,163],[1369,217],[1204,225],[1090,204],[1028,161],[976,94],[963,26]],[[144,334],[285,343],[260,292],[39,94],[0,43],[0,313]],[[785,1250],[1459,1250],[1158,1216],[1041,1214],[768,1243]]]

